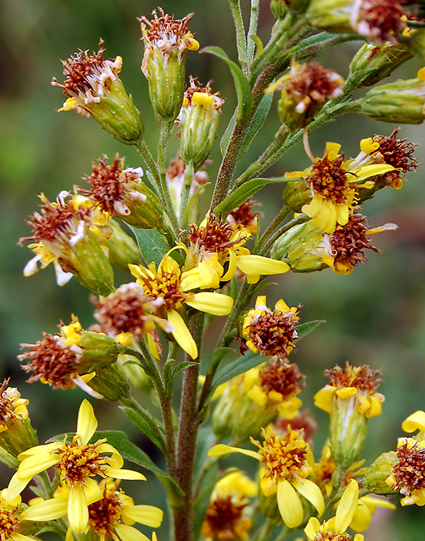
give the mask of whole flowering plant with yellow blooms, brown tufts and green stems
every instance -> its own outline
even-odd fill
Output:
[[[98,431],[87,399],[76,433],[39,442],[28,400],[4,381],[0,460],[16,471],[0,493],[1,541],[42,539],[47,531],[66,541],[154,541],[166,508],[175,541],[283,541],[298,530],[311,541],[352,535],[360,541],[377,506],[395,507],[397,498],[388,496],[400,493],[402,506],[425,504],[424,411],[404,421],[411,435],[399,437],[395,450],[364,466],[368,423],[384,402],[380,371],[349,362],[328,369],[329,384],[314,396],[330,418],[317,456],[317,423],[298,396],[305,377],[288,357],[322,321],[303,320],[302,306],[281,298],[271,307],[259,294],[270,285],[267,277],[287,272],[350,274],[367,260],[365,250],[379,252],[371,235],[397,228],[370,228],[360,211],[382,189],[401,189],[418,167],[416,145],[397,137],[399,126],[391,135],[363,138],[358,155],[348,159],[334,142],[314,157],[309,134],[346,113],[424,121],[425,68],[414,79],[380,84],[403,62],[424,56],[421,4],[272,0],[276,21],[265,45],[256,35],[259,1],[251,0],[247,33],[239,1],[229,5],[238,62],[220,48],[202,51],[229,67],[237,95],[215,179],[209,156],[225,99],[212,82],[186,77],[186,60],[200,48],[189,29],[193,13],[177,19],[158,9],[152,19],[139,19],[142,73],[160,128],[156,156],[145,140],[144,111],[119,77],[123,58],[106,59],[103,40],[98,52],[79,50],[63,61],[64,82],[52,81],[67,96],[59,111],[93,117],[118,144],[135,147],[140,162],[126,167],[118,152],[112,162],[103,155],[84,186],[69,187],[54,201],[40,195],[40,211],[28,220],[31,235],[20,241],[30,241],[33,252],[24,274],[52,263],[58,285],[75,277],[91,291],[96,323],[84,329],[72,316],[59,333],[23,343],[18,359],[28,381],[79,386],[93,403],[116,403],[166,467],[125,433]],[[359,40],[345,80],[310,62],[321,50]],[[363,87],[373,88],[354,99]],[[258,159],[242,167],[273,114],[275,92],[280,127]],[[180,150],[170,160],[175,126]],[[261,176],[301,141],[307,167]],[[253,196],[271,184],[283,202],[263,228]],[[114,267],[128,272],[127,281],[117,284]],[[211,325],[215,317],[223,318],[222,328],[206,355],[205,333],[220,326]],[[136,389],[149,407],[137,401]],[[235,453],[256,459],[253,479],[220,462]],[[124,468],[124,459],[144,473]],[[123,479],[145,481],[147,471],[165,488],[162,509],[135,505],[120,488]],[[36,497],[23,501],[26,487]],[[149,530],[142,533],[135,523]]]

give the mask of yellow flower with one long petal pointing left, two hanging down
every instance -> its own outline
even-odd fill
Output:
[[[251,438],[259,452],[219,444],[212,447],[208,455],[217,457],[240,452],[259,460],[263,464],[260,470],[261,491],[266,497],[276,494],[280,515],[289,528],[296,528],[304,518],[299,494],[310,501],[321,515],[324,511],[322,492],[317,484],[307,479],[314,463],[310,445],[295,430],[276,436],[271,425],[263,429],[263,437],[263,445]]]

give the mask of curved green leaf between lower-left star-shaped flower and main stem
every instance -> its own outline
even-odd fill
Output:
[[[143,468],[149,469],[150,472],[153,472],[159,481],[161,481],[166,487],[171,498],[171,505],[173,505],[173,503],[176,501],[179,501],[183,492],[181,491],[181,488],[177,484],[176,480],[169,476],[169,474],[166,474],[164,470],[157,467],[147,456],[147,454],[137,447],[137,445],[130,442],[127,434],[121,432],[120,430],[104,430],[94,433],[94,437],[91,438],[91,442],[97,441],[103,437],[107,438],[108,443],[115,447],[123,458],[130,460],[130,462],[134,462]]]

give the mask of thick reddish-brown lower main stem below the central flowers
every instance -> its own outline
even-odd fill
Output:
[[[194,359],[198,364],[188,367],[183,374],[176,462],[176,480],[183,495],[180,505],[174,509],[174,537],[176,541],[191,541],[193,537],[193,463],[199,426],[197,395],[203,314],[198,313],[193,316],[188,328],[198,345],[198,357]],[[188,354],[186,354],[185,360],[193,361]]]

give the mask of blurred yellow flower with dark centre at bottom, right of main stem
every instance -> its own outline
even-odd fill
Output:
[[[215,485],[201,535],[212,541],[245,541],[252,523],[246,511],[256,495],[256,483],[240,470],[231,472]]]

